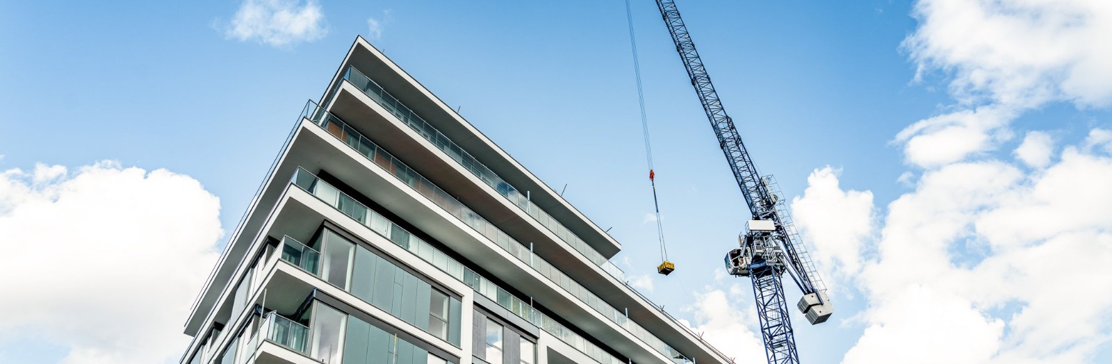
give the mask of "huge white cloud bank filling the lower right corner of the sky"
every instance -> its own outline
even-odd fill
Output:
[[[1106,343],[1112,158],[1061,159],[947,165],[890,204],[845,363],[1081,363]]]

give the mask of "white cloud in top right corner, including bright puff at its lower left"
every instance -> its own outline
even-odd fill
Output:
[[[921,0],[903,43],[923,74],[952,75],[954,110],[896,136],[912,164],[933,168],[993,149],[1010,122],[1048,102],[1112,103],[1112,3],[1100,0]]]

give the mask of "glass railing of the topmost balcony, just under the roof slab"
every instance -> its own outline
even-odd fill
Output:
[[[378,104],[383,105],[387,111],[401,120],[403,123],[409,125],[414,131],[428,140],[433,145],[444,151],[449,158],[459,162],[464,169],[470,171],[475,176],[481,180],[484,183],[498,191],[499,194],[509,200],[514,205],[518,206],[526,214],[533,216],[542,226],[548,229],[557,237],[572,245],[576,251],[583,253],[588,260],[600,266],[604,271],[613,275],[614,277],[622,281],[623,273],[622,270],[614,265],[609,260],[590,247],[583,239],[573,233],[570,230],[560,224],[559,221],[554,219],[544,209],[540,209],[533,201],[529,201],[526,194],[517,191],[513,185],[503,180],[500,176],[490,171],[489,168],[480,163],[470,153],[467,153],[463,148],[459,148],[455,142],[453,142],[444,133],[429,125],[424,119],[417,115],[417,113],[409,110],[404,103],[398,101],[398,99],[390,95],[386,90],[371,81],[370,78],[364,75],[359,70],[354,67],[348,67],[347,72],[344,73],[344,79],[351,82],[353,85],[361,90],[365,94],[375,100]]]

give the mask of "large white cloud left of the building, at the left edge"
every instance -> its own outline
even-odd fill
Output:
[[[163,363],[216,261],[219,200],[197,180],[112,162],[0,173],[0,340],[62,363]]]

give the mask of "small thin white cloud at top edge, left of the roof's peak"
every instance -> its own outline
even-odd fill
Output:
[[[314,0],[244,0],[225,36],[285,48],[328,33],[325,14]]]

